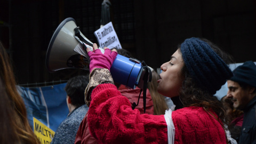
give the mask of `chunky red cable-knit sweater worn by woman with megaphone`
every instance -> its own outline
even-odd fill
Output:
[[[130,101],[115,85],[98,85],[91,98],[87,118],[90,132],[99,143],[167,143],[164,115],[140,114],[139,110],[132,110]],[[226,143],[219,122],[201,107],[175,110],[172,119],[174,143]]]

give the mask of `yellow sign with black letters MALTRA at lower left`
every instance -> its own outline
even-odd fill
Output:
[[[34,133],[36,134],[37,138],[41,141],[41,143],[50,144],[55,132],[40,121],[38,121],[35,117],[33,117],[33,121]]]

